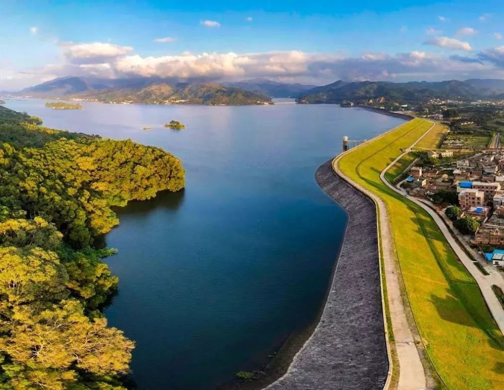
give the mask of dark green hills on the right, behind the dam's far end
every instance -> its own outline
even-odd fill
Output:
[[[482,82],[482,81],[480,81]],[[402,103],[419,103],[429,99],[480,99],[496,96],[496,92],[484,87],[484,83],[462,82],[343,82],[316,87],[302,95],[300,103],[341,103],[344,100],[364,103],[382,99]]]

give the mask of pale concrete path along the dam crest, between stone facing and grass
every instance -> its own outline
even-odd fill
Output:
[[[429,130],[431,128],[429,128]],[[380,135],[379,137],[387,133],[388,132]],[[427,133],[428,131],[425,132],[425,134]],[[419,138],[417,142],[420,139],[421,138]],[[365,144],[366,143],[364,143],[363,145]],[[414,144],[416,144],[416,142]],[[414,146],[414,144],[412,146]],[[392,331],[394,333],[397,357],[399,360],[399,383],[397,388],[398,390],[424,389],[426,388],[425,372],[423,370],[422,362],[416,349],[413,334],[410,331],[408,320],[405,314],[404,303],[401,296],[401,288],[399,285],[400,282],[396,273],[396,257],[393,250],[394,242],[390,231],[387,207],[380,197],[368,191],[358,183],[355,183],[340,171],[338,162],[344,154],[345,153],[340,154],[333,161],[334,171],[340,177],[344,178],[346,181],[352,184],[355,188],[359,189],[361,192],[373,199],[379,209],[380,241],[383,248],[385,280],[387,283]]]

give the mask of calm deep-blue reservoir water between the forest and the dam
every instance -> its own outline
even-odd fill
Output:
[[[313,174],[341,138],[369,138],[402,120],[334,105],[157,107],[41,100],[7,107],[54,128],[132,138],[179,157],[183,192],[118,209],[107,259],[119,294],[109,324],[136,341],[141,389],[209,389],[259,368],[316,316],[346,215]],[[187,128],[159,128],[171,119]],[[150,131],[144,126],[157,127]]]

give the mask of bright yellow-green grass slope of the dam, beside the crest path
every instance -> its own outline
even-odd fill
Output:
[[[412,313],[439,376],[450,389],[502,388],[504,338],[476,282],[427,212],[380,179],[401,149],[429,127],[414,119],[347,153],[339,167],[387,205]]]

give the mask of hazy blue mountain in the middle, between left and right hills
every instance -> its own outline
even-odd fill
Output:
[[[270,98],[298,98],[315,86],[299,83],[278,83],[267,79],[243,80],[223,83],[224,86],[240,88]]]

